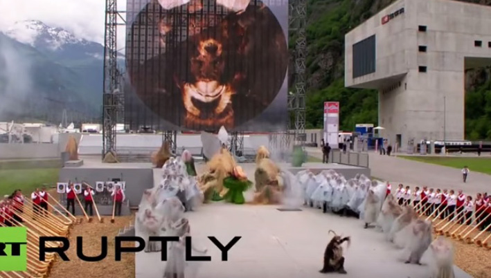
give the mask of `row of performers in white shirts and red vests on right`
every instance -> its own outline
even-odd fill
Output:
[[[391,187],[388,185],[388,192]],[[395,192],[395,198],[398,199],[399,205],[413,206],[421,205],[427,216],[438,210],[437,214],[440,214],[440,219],[445,219],[449,215],[458,215],[459,223],[463,224],[467,221],[467,225],[472,223],[472,214],[475,212],[477,217],[476,221],[481,223],[479,230],[483,230],[491,223],[491,217],[487,217],[491,214],[491,196],[487,193],[476,194],[475,200],[472,196],[467,196],[462,190],[458,190],[455,194],[454,190],[443,189],[443,192],[437,188],[415,187],[411,194],[411,188],[409,186],[404,188],[404,185],[400,184]],[[460,215],[463,214],[462,217]]]

